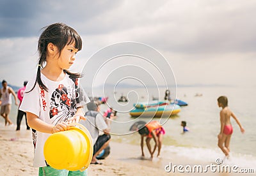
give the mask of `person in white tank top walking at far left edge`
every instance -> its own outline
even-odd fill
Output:
[[[12,105],[12,95],[15,99],[15,105],[18,106],[17,96],[13,91],[12,87],[7,85],[6,80],[2,82],[3,88],[0,91],[1,98],[1,116],[5,120],[5,126],[8,124],[9,126],[13,124],[13,122],[9,119],[9,114],[11,112]]]

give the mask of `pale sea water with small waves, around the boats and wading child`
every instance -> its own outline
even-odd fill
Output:
[[[217,135],[220,133],[220,108],[217,105],[217,98],[225,95],[228,97],[228,106],[236,114],[241,122],[245,133],[242,134],[239,126],[234,119],[231,120],[234,132],[230,142],[230,150],[233,164],[255,168],[256,166],[256,135],[255,135],[255,101],[256,87],[228,87],[228,86],[209,86],[209,87],[170,87],[172,99],[186,101],[188,106],[182,106],[178,115],[170,118],[154,119],[163,124],[166,134],[163,138],[163,158],[168,161],[172,154],[188,159],[196,159],[202,162],[214,162],[217,158],[223,158],[224,155],[217,146]],[[151,89],[151,88],[150,88]],[[131,124],[138,119],[129,115],[133,103],[136,101],[151,101],[152,96],[164,98],[165,89],[148,90],[136,89],[118,89],[115,94],[110,91],[104,91],[105,96],[109,96],[108,105],[118,110],[117,118],[111,123],[112,140],[120,143],[129,143],[138,145],[140,150],[140,135],[129,131]],[[114,92],[114,91],[112,91]],[[150,92],[150,94],[147,94]],[[89,93],[88,93],[89,94]],[[116,100],[121,95],[129,98],[128,103],[117,103]],[[202,96],[195,96],[202,94]],[[89,96],[92,94],[89,94]],[[93,90],[93,96],[102,96],[102,90]],[[13,101],[14,102],[14,101]],[[101,111],[104,112],[108,105],[101,105]],[[17,106],[12,105],[10,119],[16,123]],[[149,121],[150,119],[141,118],[140,120]],[[182,134],[181,121],[186,121],[189,132]],[[3,125],[3,118],[0,120]],[[22,121],[21,130],[25,130],[25,122]],[[146,147],[145,147],[145,150]]]

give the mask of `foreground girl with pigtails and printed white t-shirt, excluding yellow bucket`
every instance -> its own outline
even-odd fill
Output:
[[[38,40],[38,70],[28,82],[20,110],[26,112],[33,129],[34,166],[39,167],[39,175],[87,175],[87,171],[56,170],[44,158],[44,143],[51,133],[85,119],[83,105],[90,100],[78,85],[81,75],[68,71],[81,48],[79,34],[61,23],[46,27]]]

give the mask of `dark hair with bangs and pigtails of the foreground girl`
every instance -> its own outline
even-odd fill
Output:
[[[48,88],[44,85],[44,83],[41,80],[41,68],[43,68],[46,62],[48,44],[52,43],[56,47],[58,47],[59,56],[60,56],[63,48],[66,45],[70,45],[72,43],[75,43],[75,48],[77,48],[78,50],[81,50],[82,39],[72,27],[69,27],[63,23],[51,24],[50,26],[43,27],[42,29],[45,29],[45,30],[40,35],[40,38],[38,40],[37,49],[38,49],[39,61],[38,61],[38,69],[36,73],[36,82],[41,87],[41,89],[48,91]],[[70,77],[75,77],[75,78],[81,77],[80,73],[71,73],[68,70],[64,70],[64,72],[70,75]],[[31,92],[35,88],[36,82],[33,85],[33,88],[28,92]]]

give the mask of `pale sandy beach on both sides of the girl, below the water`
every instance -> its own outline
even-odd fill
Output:
[[[15,131],[15,126],[0,126],[0,141],[0,159],[2,161],[0,175],[38,175],[38,168],[33,168],[31,130],[20,129],[20,131]],[[200,159],[186,157],[186,153],[183,153],[183,156],[180,155],[179,152],[184,151],[177,147],[163,147],[163,152],[161,152],[162,158],[154,158],[152,161],[149,161],[147,157],[150,155],[146,146],[146,159],[141,159],[140,145],[113,141],[109,145],[111,148],[109,156],[106,159],[100,160],[102,165],[90,165],[88,175],[191,175],[192,173],[168,173],[165,172],[164,166],[170,163],[183,166],[205,166],[210,164],[210,162]],[[170,152],[166,149],[175,150]],[[188,152],[196,152],[191,149],[187,150]],[[212,160],[212,163],[214,164],[214,160]],[[197,174],[193,173],[193,175]],[[207,172],[208,174],[223,175],[224,173]]]

